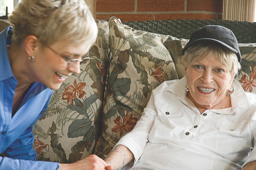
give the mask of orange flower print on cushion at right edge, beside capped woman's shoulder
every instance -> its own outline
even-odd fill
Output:
[[[253,87],[256,87],[256,71],[254,70],[254,66],[252,66],[252,72],[249,74],[249,79],[246,74],[244,74],[239,82],[244,83],[242,85],[244,91],[247,91],[248,89],[250,92],[253,91]]]

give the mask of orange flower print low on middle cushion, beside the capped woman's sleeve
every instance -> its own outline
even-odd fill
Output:
[[[132,117],[132,113],[129,114],[129,111],[126,111],[126,116],[123,118],[123,121],[120,116],[117,116],[116,119],[114,119],[114,123],[116,126],[113,127],[112,132],[119,133],[120,136],[125,132],[130,132],[133,130],[134,126],[137,123],[137,118]]]

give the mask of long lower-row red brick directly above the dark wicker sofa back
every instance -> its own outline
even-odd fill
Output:
[[[215,20],[214,14],[155,14],[155,20]]]

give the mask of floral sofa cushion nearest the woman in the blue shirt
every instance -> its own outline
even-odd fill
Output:
[[[108,67],[108,21],[96,20],[99,34],[81,73],[54,91],[35,124],[37,160],[72,163],[93,153],[98,136]]]

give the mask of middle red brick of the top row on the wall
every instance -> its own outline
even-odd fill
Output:
[[[184,0],[137,0],[137,11],[184,11]]]

